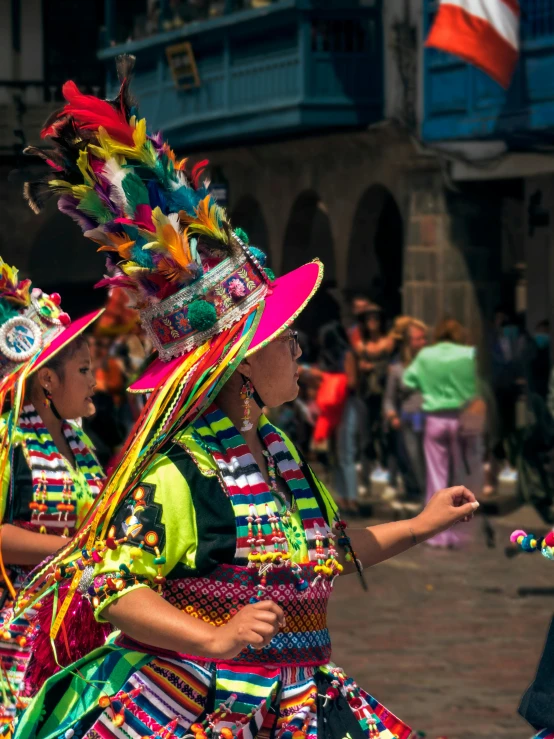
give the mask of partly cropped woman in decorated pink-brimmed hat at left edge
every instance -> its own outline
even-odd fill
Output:
[[[26,617],[11,619],[30,569],[75,533],[104,473],[80,427],[94,413],[94,377],[82,332],[102,311],[74,323],[0,258],[0,724],[28,703],[22,676],[31,655]]]

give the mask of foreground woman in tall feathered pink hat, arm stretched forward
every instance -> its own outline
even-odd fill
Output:
[[[120,632],[46,681],[18,739],[406,739],[329,662],[327,601],[341,572],[467,518],[473,495],[441,491],[412,521],[348,537],[262,411],[298,392],[291,324],[321,263],[274,279],[206,189],[204,163],[189,171],[138,118],[127,81],[111,102],[73,83],[64,94],[44,131],[50,187],[110,253],[104,282],[134,294],[159,357],[131,388],[151,395],[86,525],[19,604],[42,603],[60,660],[79,656],[89,602]],[[41,187],[27,188],[35,205]]]

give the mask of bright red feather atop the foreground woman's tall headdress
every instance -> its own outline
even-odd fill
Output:
[[[116,141],[126,146],[134,145],[133,129],[121,110],[116,110],[106,100],[79,92],[72,80],[65,83],[62,92],[67,105],[60,111],[58,118],[41,131],[43,139],[55,136],[59,118],[70,115],[84,130],[97,131],[102,126]]]

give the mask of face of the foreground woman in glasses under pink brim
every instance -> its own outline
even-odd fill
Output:
[[[287,329],[248,357],[239,371],[250,378],[264,405],[276,408],[298,395],[298,359],[301,356],[302,349],[294,340],[293,332]]]

